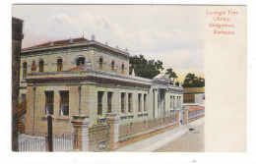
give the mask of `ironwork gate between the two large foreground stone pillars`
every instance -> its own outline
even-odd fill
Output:
[[[95,125],[89,129],[89,150],[107,151],[109,149],[109,127]]]

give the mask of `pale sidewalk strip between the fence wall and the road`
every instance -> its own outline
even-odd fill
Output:
[[[155,137],[149,137],[137,142],[125,145],[116,149],[116,152],[153,152],[164,146],[165,144],[181,137],[189,132],[189,129],[197,129],[200,125],[204,124],[205,119],[201,118],[188,125],[179,126],[173,130],[161,133]]]

